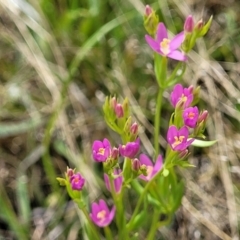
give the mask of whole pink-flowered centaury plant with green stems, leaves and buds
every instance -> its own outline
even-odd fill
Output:
[[[93,203],[87,202],[82,190],[87,189],[88,179],[74,169],[68,168],[65,178],[57,178],[85,215],[89,239],[138,239],[139,234],[144,232],[144,239],[151,240],[156,239],[160,227],[171,223],[184,194],[184,181],[176,174],[176,168],[193,166],[188,162],[189,146],[196,138],[195,146],[206,145],[206,141],[199,138],[205,138],[208,117],[207,110],[196,106],[200,89],[184,87],[179,81],[186,68],[187,53],[196,40],[208,31],[211,20],[206,24],[202,21],[194,24],[193,17],[189,16],[183,31],[169,39],[164,23],[159,22],[156,13],[146,6],[144,26],[149,35],[145,39],[154,51],[154,69],[159,88],[154,122],[154,156],[139,154],[139,124],[133,120],[128,99],[121,103],[117,97],[109,96],[103,105],[104,119],[119,135],[121,142],[114,146],[107,138],[95,140],[92,158],[96,164],[103,165],[102,176],[112,201],[99,199]],[[168,61],[179,62],[171,73]],[[166,90],[171,91],[169,101],[173,112],[166,129],[167,146],[160,154],[161,107]],[[130,194],[138,196],[133,209],[125,207],[126,196]],[[153,212],[151,216],[149,211]]]

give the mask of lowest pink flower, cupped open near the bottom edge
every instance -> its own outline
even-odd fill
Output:
[[[92,203],[92,212],[90,213],[90,217],[92,221],[99,227],[108,226],[115,215],[115,206],[109,211],[107,204],[104,200],[100,199],[99,204]]]

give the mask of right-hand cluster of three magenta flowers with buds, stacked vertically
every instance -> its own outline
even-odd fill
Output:
[[[208,114],[207,111],[199,114],[198,107],[191,106],[194,98],[198,98],[197,95],[198,90],[194,92],[192,86],[184,88],[181,84],[176,84],[171,92],[170,99],[175,112],[174,121],[167,132],[167,141],[173,151],[183,152],[195,137],[203,137],[201,134],[205,129]]]

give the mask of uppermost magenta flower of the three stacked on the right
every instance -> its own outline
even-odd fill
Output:
[[[191,88],[183,88],[181,84],[176,84],[171,93],[171,103],[174,107],[183,105],[183,108],[187,108],[193,101],[193,94]]]

